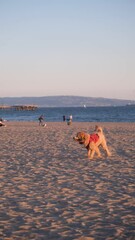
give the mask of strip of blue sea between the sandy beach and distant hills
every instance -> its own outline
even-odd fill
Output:
[[[61,122],[70,115],[74,122],[135,122],[135,105],[110,107],[39,107],[35,110],[0,109],[0,118],[7,121],[38,121],[43,115],[46,122]]]

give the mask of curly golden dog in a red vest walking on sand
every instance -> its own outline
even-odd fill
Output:
[[[93,159],[95,153],[97,153],[97,156],[99,158],[101,157],[99,146],[103,147],[107,156],[111,156],[106,143],[105,135],[103,133],[103,129],[99,126],[95,126],[94,133],[88,134],[85,132],[78,132],[77,135],[73,137],[73,139],[86,147],[88,158],[90,159]]]

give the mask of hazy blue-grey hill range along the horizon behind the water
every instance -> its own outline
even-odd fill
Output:
[[[135,104],[132,100],[111,98],[94,98],[81,96],[45,96],[45,97],[4,97],[0,98],[0,105],[32,104],[39,107],[82,107],[91,106],[124,106]]]

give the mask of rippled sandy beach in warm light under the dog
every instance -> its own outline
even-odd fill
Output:
[[[135,239],[135,123],[101,123],[112,156],[89,160],[95,124],[0,128],[0,240]]]

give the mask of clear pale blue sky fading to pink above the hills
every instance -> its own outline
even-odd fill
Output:
[[[135,100],[135,0],[0,0],[0,97]]]

